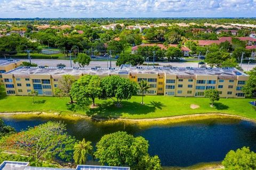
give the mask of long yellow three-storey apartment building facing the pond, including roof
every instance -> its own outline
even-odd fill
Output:
[[[148,95],[203,97],[204,91],[217,89],[221,98],[245,98],[242,87],[249,76],[235,68],[167,68],[130,67],[103,68],[38,68],[19,67],[3,74],[7,95],[28,95],[35,90],[39,95],[54,96],[58,80],[63,75],[75,79],[83,75],[106,77],[119,75],[134,82],[147,80]]]

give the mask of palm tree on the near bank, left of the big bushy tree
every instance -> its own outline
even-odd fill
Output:
[[[74,160],[76,164],[85,164],[87,155],[92,155],[93,147],[92,142],[86,142],[85,139],[83,141],[79,141],[74,146]]]

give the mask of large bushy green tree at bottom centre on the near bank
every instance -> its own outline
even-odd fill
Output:
[[[95,158],[102,165],[126,166],[131,169],[161,169],[157,156],[148,154],[148,141],[143,137],[133,137],[126,132],[116,132],[102,136],[96,145]]]

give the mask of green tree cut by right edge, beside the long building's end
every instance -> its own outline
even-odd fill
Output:
[[[246,84],[243,86],[242,91],[249,98],[256,97],[256,67],[254,67],[251,71],[248,72],[249,80],[247,80]]]

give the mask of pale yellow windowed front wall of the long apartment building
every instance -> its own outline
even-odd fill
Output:
[[[78,79],[83,75],[74,76]],[[99,75],[103,78],[108,75]],[[241,88],[244,86],[249,76],[231,76],[229,79],[221,79],[216,75],[197,75],[192,77],[182,77],[182,75],[167,75],[165,72],[157,74],[121,74],[124,78],[129,78],[133,82],[140,79],[147,80],[152,87],[149,88],[147,95],[167,95],[167,96],[183,96],[183,97],[204,97],[205,90],[215,88],[220,92],[221,98],[244,98]],[[33,84],[50,85],[51,88],[42,88],[43,96],[52,96],[55,88],[58,86],[58,80],[61,76],[55,75],[12,75],[3,74],[4,79],[10,81],[4,82],[7,95],[28,95],[30,90],[34,90]],[[33,79],[39,79],[39,83],[33,83]],[[50,80],[49,84],[44,84],[43,79]],[[27,85],[28,84],[28,85]],[[14,88],[12,88],[12,85]],[[44,86],[45,87],[45,86]],[[46,86],[49,87],[49,86]],[[36,90],[36,89],[35,89]]]

